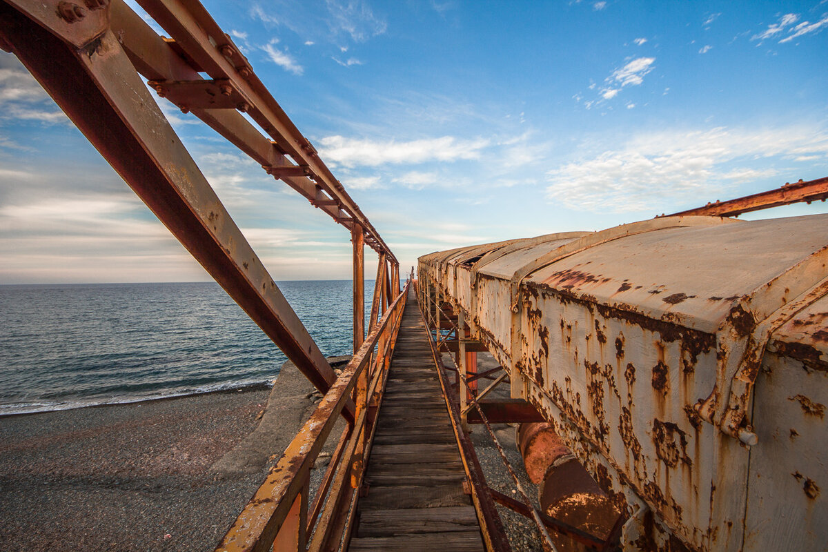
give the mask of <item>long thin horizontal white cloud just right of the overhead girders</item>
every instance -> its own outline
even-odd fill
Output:
[[[329,136],[320,140],[320,156],[342,166],[379,166],[478,159],[487,140],[459,140],[444,136],[409,142]]]

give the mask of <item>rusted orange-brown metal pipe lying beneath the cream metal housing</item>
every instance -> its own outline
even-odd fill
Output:
[[[618,521],[619,511],[590,473],[547,423],[517,426],[517,448],[526,471],[539,488],[547,516],[604,539]],[[561,552],[580,550],[564,535],[551,535]]]

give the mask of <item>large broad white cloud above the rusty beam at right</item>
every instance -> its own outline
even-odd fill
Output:
[[[577,210],[656,210],[667,200],[698,202],[739,182],[779,174],[780,165],[809,155],[828,161],[826,130],[719,127],[643,133],[619,149],[585,154],[549,171],[546,197]]]

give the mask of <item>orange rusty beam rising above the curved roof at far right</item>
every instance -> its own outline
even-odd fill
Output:
[[[679,217],[690,214],[710,215],[717,217],[735,217],[739,214],[750,213],[761,209],[770,209],[780,205],[802,203],[810,204],[812,201],[825,201],[828,199],[828,176],[816,180],[803,182],[785,183],[781,188],[759,192],[758,194],[745,195],[738,199],[728,201],[716,201],[706,204],[704,207],[687,209],[679,213],[668,214],[668,217]],[[664,215],[662,215],[664,216]],[[657,217],[660,218],[660,217]]]

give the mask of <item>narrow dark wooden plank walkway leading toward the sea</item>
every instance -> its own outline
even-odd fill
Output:
[[[349,550],[485,550],[465,472],[409,293]]]

